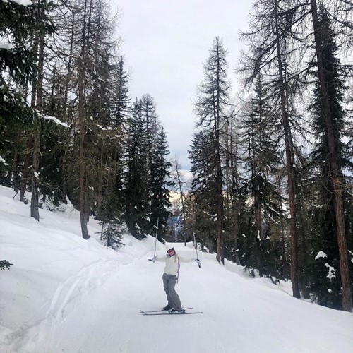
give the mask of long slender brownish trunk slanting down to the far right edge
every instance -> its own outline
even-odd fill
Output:
[[[320,30],[318,23],[318,10],[316,0],[311,0],[311,16],[313,18],[313,33],[315,37],[316,58],[318,59],[318,79],[321,89],[321,101],[323,104],[323,115],[328,133],[328,148],[330,154],[328,160],[330,164],[331,179],[333,182],[333,197],[335,200],[335,217],[337,223],[337,243],[340,253],[340,274],[342,281],[342,310],[352,311],[352,289],[349,279],[349,266],[347,256],[347,241],[345,235],[345,214],[342,201],[342,174],[338,167],[338,157],[335,148],[335,138],[333,136],[333,121],[328,100],[328,88],[326,85],[325,69],[323,65],[323,53],[321,48]]]

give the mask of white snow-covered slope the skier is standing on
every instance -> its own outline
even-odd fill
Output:
[[[30,206],[0,186],[1,353],[353,352],[353,314],[294,299],[290,283],[252,279],[243,269],[198,251],[181,263],[177,292],[200,315],[143,316],[167,304],[164,263],[152,263],[155,239],[128,234],[119,251],[80,237],[72,205]],[[30,198],[30,196],[27,196]],[[195,257],[192,244],[173,244]],[[165,253],[157,242],[157,256]]]

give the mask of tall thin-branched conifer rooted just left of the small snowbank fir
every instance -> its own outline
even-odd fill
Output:
[[[102,131],[102,126],[97,123],[106,126],[109,122],[111,59],[116,45],[111,36],[116,23],[114,18],[109,18],[109,8],[103,0],[85,0],[83,4],[76,4],[73,15],[77,16],[78,29],[73,48],[78,90],[78,204],[83,238],[88,239],[87,224],[96,199],[92,190],[95,180],[99,179],[95,171],[99,169],[97,164],[102,165],[102,160],[97,158],[97,150],[102,152],[101,140],[95,131]],[[97,185],[97,189],[100,188]]]

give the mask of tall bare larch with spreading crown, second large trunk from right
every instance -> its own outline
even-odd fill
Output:
[[[244,33],[250,41],[249,54],[244,54],[241,71],[247,74],[246,85],[253,83],[261,72],[265,85],[272,91],[272,100],[278,117],[277,126],[281,129],[285,145],[287,189],[289,198],[289,226],[291,236],[291,280],[293,296],[299,298],[298,277],[298,217],[295,190],[295,155],[293,143],[293,123],[296,116],[291,97],[298,88],[301,48],[294,38],[301,33],[301,11],[304,5],[296,1],[256,1],[256,13],[251,22],[251,31]],[[297,47],[296,45],[297,44]],[[298,55],[295,56],[294,53]]]

